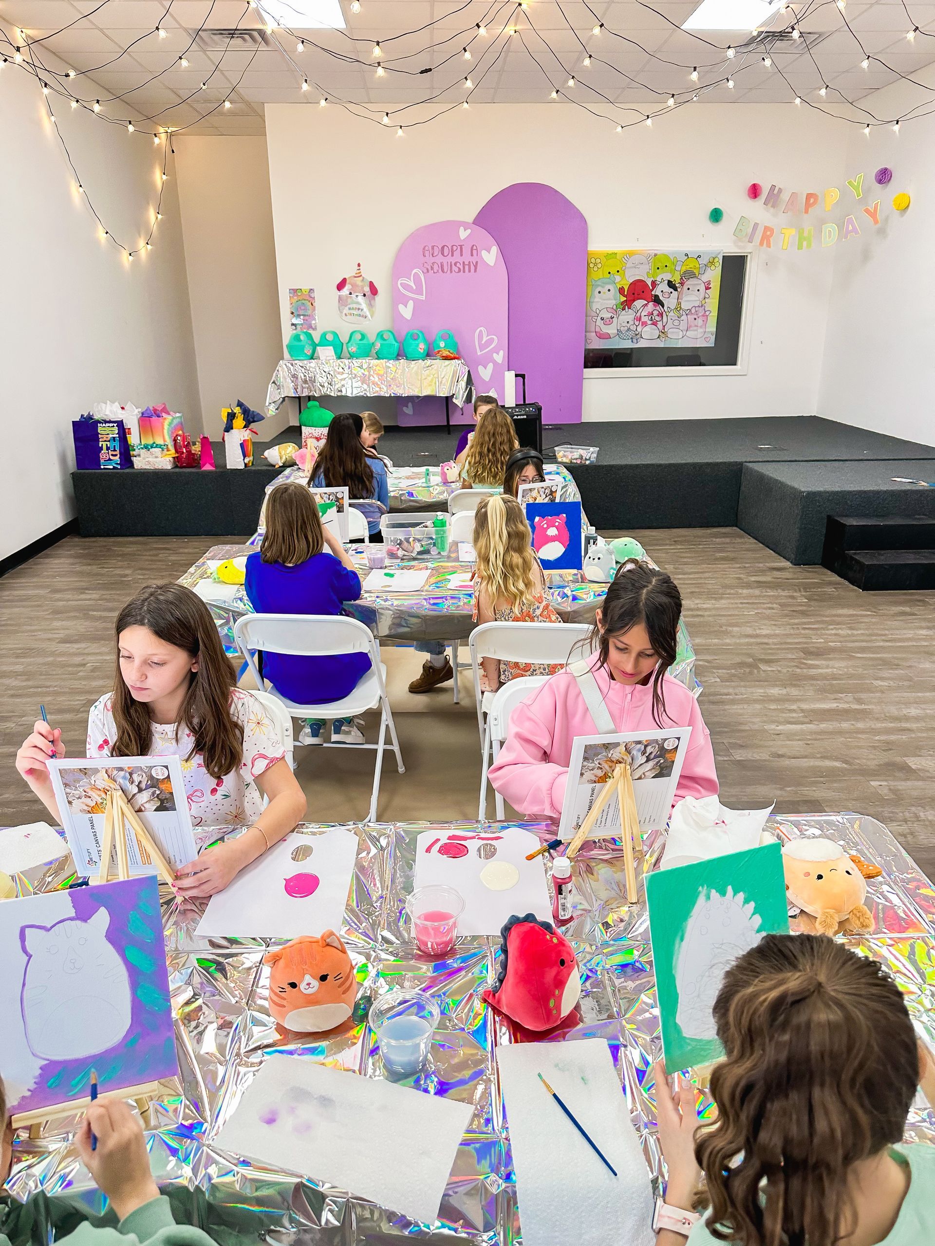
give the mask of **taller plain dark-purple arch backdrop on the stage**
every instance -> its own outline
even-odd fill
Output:
[[[510,274],[510,368],[549,424],[581,420],[587,222],[551,186],[517,182],[474,218],[496,238]],[[517,395],[519,397],[520,395]]]

